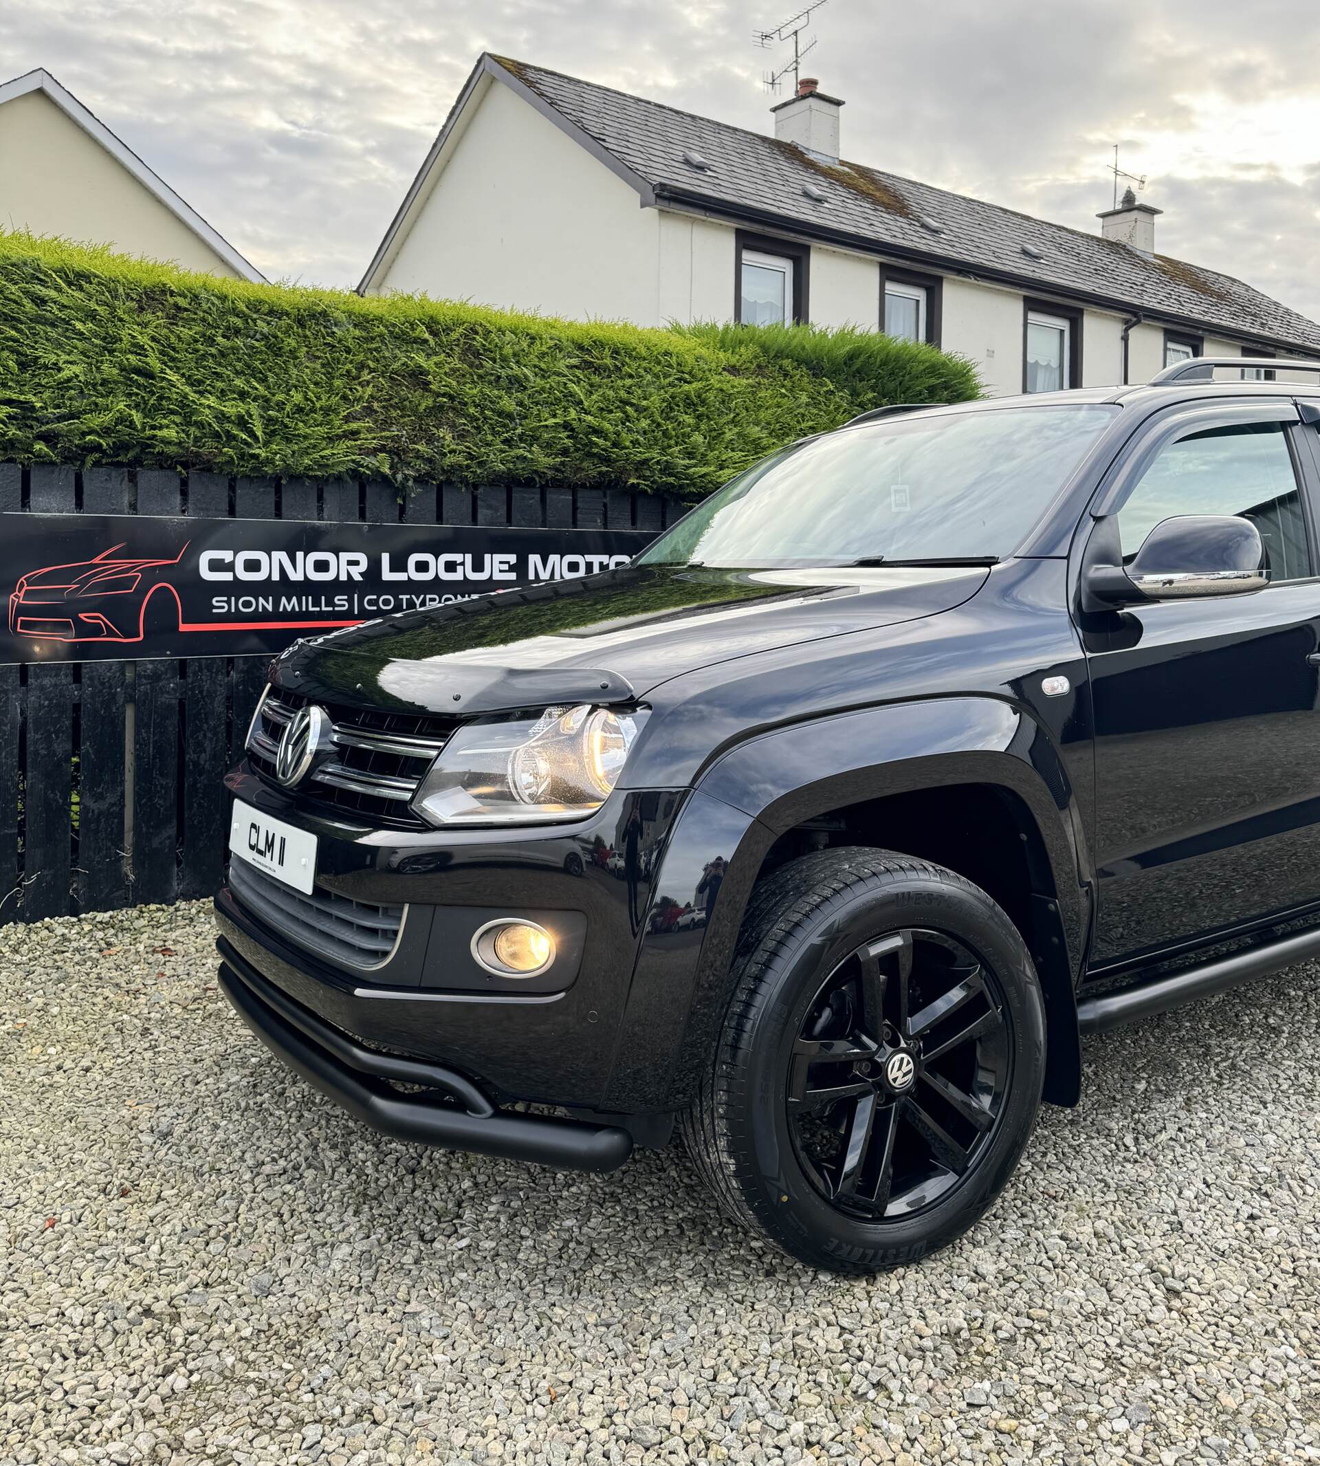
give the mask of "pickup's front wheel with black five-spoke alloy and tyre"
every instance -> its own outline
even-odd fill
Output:
[[[683,1119],[727,1212],[856,1274],[990,1207],[1040,1104],[1045,1007],[983,890],[889,850],[809,855],[753,891],[733,979]]]

